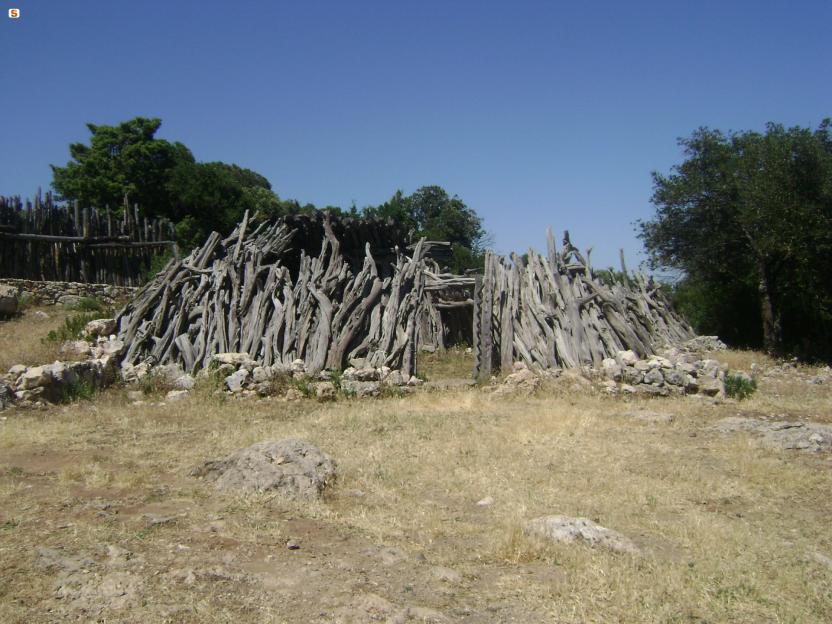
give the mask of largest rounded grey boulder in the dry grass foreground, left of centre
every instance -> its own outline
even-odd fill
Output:
[[[335,481],[335,461],[304,440],[259,442],[223,459],[205,462],[191,476],[214,481],[221,490],[280,492],[291,498],[318,498]]]

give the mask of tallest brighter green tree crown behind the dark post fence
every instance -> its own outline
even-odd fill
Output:
[[[168,188],[178,163],[194,157],[181,143],[156,139],[160,119],[136,117],[116,126],[87,124],[90,144],[69,146],[72,159],[52,167],[52,187],[58,196],[82,206],[121,209],[124,196],[150,216],[170,216],[175,198]]]

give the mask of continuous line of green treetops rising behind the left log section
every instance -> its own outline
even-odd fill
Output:
[[[156,138],[161,124],[160,119],[144,117],[116,126],[87,124],[89,145],[73,143],[66,166],[52,165],[52,186],[59,198],[118,212],[127,196],[146,215],[173,221],[185,246],[200,243],[212,230],[230,231],[246,210],[267,217],[318,210],[391,217],[406,224],[414,239],[450,241],[453,270],[481,264],[486,241],[481,219],[439,186],[423,186],[407,196],[397,191],[384,204],[361,210],[302,205],[280,199],[255,171],[223,162],[198,162],[182,143]]]

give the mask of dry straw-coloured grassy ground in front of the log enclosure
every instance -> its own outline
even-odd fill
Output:
[[[18,353],[51,328],[29,322],[0,323]],[[424,361],[429,378],[469,366],[464,351]],[[809,383],[815,372],[763,377],[742,402],[563,383],[329,404],[198,387],[136,405],[115,387],[9,410],[0,622],[832,622],[830,454],[712,429],[737,415],[832,423],[832,383]],[[289,436],[338,462],[324,500],[189,476]],[[642,552],[526,537],[546,514],[589,518]]]

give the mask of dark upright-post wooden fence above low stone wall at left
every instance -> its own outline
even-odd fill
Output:
[[[151,262],[177,253],[173,224],[137,205],[110,210],[0,197],[0,277],[138,286]]]

